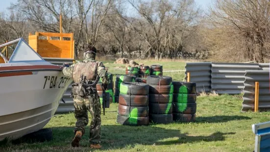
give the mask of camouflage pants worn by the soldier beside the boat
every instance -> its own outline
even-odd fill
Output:
[[[85,133],[85,126],[88,124],[89,121],[87,110],[89,110],[90,114],[92,115],[89,142],[91,144],[100,143],[101,104],[98,93],[91,94],[86,98],[74,96],[73,100],[75,108],[74,115],[77,119],[74,133],[77,130],[81,130],[83,134]]]

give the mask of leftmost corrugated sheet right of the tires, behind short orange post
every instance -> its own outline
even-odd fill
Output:
[[[211,90],[211,62],[186,63],[185,80],[190,73],[190,81],[196,82],[197,92]]]

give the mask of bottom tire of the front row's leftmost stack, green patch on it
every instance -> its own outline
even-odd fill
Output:
[[[129,126],[147,126],[149,125],[149,117],[127,117],[117,115],[116,122],[121,125],[129,125]]]

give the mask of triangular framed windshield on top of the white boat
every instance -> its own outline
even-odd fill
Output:
[[[19,41],[19,42],[18,42]],[[3,55],[0,52],[0,56],[3,58],[5,63],[18,63],[18,62],[46,62],[36,51],[34,51],[23,38],[5,43],[0,45],[1,47],[7,47],[9,45],[12,45],[14,43],[17,43],[16,48],[12,52],[12,55],[10,55],[10,58],[8,59],[7,55]],[[3,52],[3,51],[2,51]]]

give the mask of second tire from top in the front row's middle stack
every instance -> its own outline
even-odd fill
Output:
[[[173,85],[149,85],[149,94],[172,94]]]

